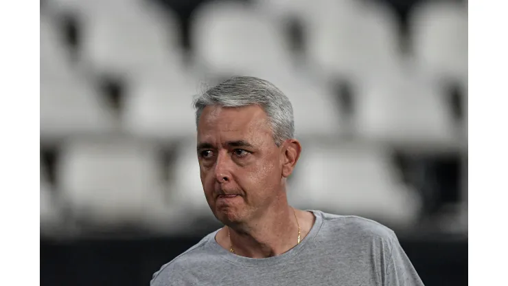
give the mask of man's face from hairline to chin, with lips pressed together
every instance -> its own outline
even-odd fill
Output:
[[[205,107],[197,151],[205,197],[222,223],[255,217],[280,195],[281,148],[258,105]]]

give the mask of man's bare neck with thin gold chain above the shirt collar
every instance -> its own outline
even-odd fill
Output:
[[[235,254],[251,258],[277,256],[298,242],[296,210],[286,204],[273,208],[249,223],[228,227],[229,243]]]

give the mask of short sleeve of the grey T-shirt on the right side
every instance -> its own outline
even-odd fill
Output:
[[[389,241],[390,254],[385,263],[385,286],[423,286],[415,267],[402,249],[397,236]]]

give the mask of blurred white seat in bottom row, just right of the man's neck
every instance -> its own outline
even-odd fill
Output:
[[[389,152],[357,143],[307,142],[292,175],[288,199],[295,206],[411,225],[419,213],[416,192],[404,186]]]

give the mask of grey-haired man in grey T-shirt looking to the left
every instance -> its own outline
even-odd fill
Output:
[[[277,87],[235,77],[194,107],[201,182],[224,227],[163,265],[152,286],[423,285],[389,228],[288,205],[301,145]]]

